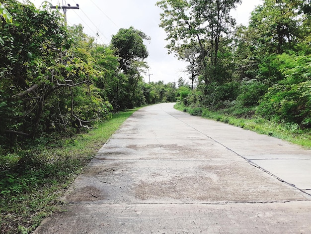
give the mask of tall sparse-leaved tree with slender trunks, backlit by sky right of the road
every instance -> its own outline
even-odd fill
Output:
[[[218,80],[218,56],[222,37],[227,37],[235,21],[230,11],[240,0],[162,0],[156,4],[163,9],[162,27],[166,33],[169,52],[177,55],[180,44],[196,41],[200,47],[202,74],[208,85]],[[192,43],[195,45],[196,43]]]

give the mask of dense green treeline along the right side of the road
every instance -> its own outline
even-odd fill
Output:
[[[161,0],[170,53],[188,62],[186,107],[311,128],[310,0],[263,0],[249,26],[241,0]]]

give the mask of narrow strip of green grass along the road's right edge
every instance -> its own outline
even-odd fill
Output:
[[[193,112],[191,108],[186,108],[180,103],[175,105],[175,109],[188,113]],[[252,130],[260,134],[274,136],[311,149],[311,129],[301,129],[298,124],[278,123],[256,116],[252,118],[238,118],[228,113],[213,112],[208,109],[203,109],[201,116]]]

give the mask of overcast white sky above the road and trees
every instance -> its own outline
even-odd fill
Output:
[[[37,6],[43,0],[30,0]],[[67,11],[67,21],[69,25],[81,23],[84,32],[96,37],[99,34],[98,42],[109,44],[111,36],[115,35],[120,28],[134,28],[145,32],[151,37],[147,43],[149,57],[147,59],[150,66],[151,81],[177,82],[179,77],[188,80],[188,75],[184,73],[187,64],[177,60],[173,55],[168,55],[164,40],[166,34],[159,28],[161,10],[155,5],[157,0],[49,0],[53,5],[79,4],[80,9],[70,9]],[[232,13],[238,24],[247,25],[250,12],[261,0],[242,0],[235,12]],[[148,72],[147,72],[148,74]],[[149,78],[145,74],[145,81]]]

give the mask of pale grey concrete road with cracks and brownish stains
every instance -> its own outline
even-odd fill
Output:
[[[128,118],[36,234],[311,233],[311,151],[173,104]]]

